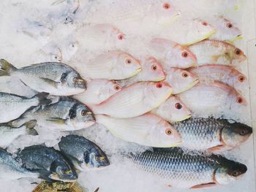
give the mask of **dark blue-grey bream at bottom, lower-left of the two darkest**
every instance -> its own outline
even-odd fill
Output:
[[[17,155],[24,168],[38,172],[45,180],[72,182],[78,179],[72,164],[53,147],[32,145],[20,150]]]

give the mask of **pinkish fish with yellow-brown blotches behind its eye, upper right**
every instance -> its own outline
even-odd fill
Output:
[[[197,57],[198,66],[203,64],[238,64],[246,60],[246,55],[238,47],[228,42],[206,39],[189,45],[189,50]]]

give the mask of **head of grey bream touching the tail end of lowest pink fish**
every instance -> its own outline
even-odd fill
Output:
[[[69,110],[69,118],[75,128],[88,128],[95,123],[94,114],[86,105],[74,104]]]

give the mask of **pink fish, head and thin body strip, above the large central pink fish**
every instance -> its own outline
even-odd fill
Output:
[[[154,81],[159,82],[165,80],[165,72],[162,65],[152,56],[146,56],[140,62],[141,71],[127,80],[118,81],[123,86],[132,85],[135,82]]]

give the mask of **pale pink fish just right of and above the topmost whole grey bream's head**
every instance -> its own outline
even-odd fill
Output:
[[[140,62],[120,50],[98,55],[83,65],[83,74],[91,79],[124,80],[135,76],[140,70]]]

